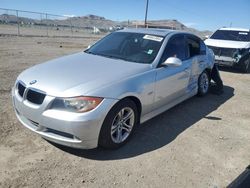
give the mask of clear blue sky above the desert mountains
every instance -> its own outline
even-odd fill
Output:
[[[146,0],[0,0],[1,8],[95,14],[115,21],[144,20],[145,4]],[[148,19],[177,19],[199,30],[213,31],[231,23],[250,28],[250,0],[149,0]]]

